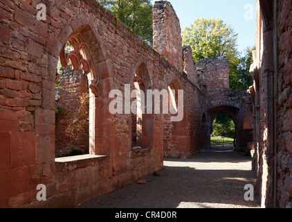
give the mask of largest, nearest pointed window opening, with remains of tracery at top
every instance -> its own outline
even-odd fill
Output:
[[[80,33],[60,52],[56,74],[55,157],[89,154],[91,54]]]

